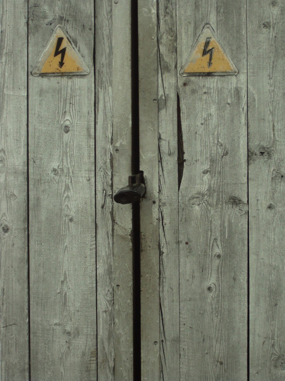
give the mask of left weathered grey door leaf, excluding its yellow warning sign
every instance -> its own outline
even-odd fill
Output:
[[[133,378],[131,206],[112,200],[131,174],[130,2],[112,5],[1,3],[3,380]],[[32,75],[57,25],[88,75]]]

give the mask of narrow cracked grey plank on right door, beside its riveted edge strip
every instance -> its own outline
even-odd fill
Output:
[[[157,2],[160,379],[179,380],[179,219],[176,1]]]

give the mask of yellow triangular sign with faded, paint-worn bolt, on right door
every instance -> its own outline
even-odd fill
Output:
[[[222,48],[214,29],[205,25],[180,75],[236,75],[238,70]]]

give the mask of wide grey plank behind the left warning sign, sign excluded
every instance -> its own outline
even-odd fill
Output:
[[[96,379],[93,2],[35,1],[29,71],[62,24],[87,76],[29,77],[31,378]]]

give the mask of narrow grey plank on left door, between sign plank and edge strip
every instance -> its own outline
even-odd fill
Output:
[[[112,1],[95,2],[98,380],[114,379]]]

